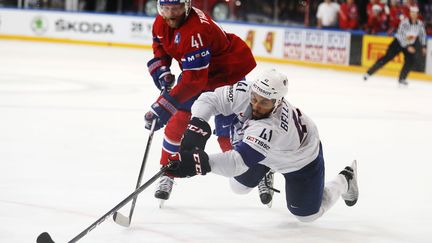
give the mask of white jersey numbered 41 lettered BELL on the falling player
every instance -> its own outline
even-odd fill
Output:
[[[319,153],[320,140],[314,122],[286,100],[270,117],[251,117],[252,82],[217,88],[195,101],[192,116],[206,121],[213,115],[235,113],[231,139],[234,150],[210,154],[212,172],[237,176],[254,164],[263,164],[280,173],[299,170]]]

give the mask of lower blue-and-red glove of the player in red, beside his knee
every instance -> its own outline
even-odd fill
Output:
[[[151,110],[145,114],[145,128],[150,130],[153,120],[157,119],[154,131],[161,129],[171,116],[177,112],[177,107],[177,101],[168,92],[163,92],[156,102],[151,105]]]

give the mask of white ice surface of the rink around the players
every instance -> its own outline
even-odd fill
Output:
[[[0,41],[0,242],[67,242],[129,195],[158,95],[150,51]],[[130,228],[108,219],[80,242],[432,242],[432,83],[290,65],[288,98],[318,125],[330,180],[358,160],[360,198],[301,223],[282,192],[230,191],[209,174],[177,180],[164,209],[140,194]],[[178,69],[175,70],[178,74]],[[159,168],[155,134],[143,182]],[[214,137],[208,151],[218,152]],[[275,187],[283,189],[281,175]],[[127,213],[129,204],[122,212]]]

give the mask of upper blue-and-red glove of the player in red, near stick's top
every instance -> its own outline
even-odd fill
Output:
[[[166,58],[155,57],[147,63],[153,82],[159,90],[170,90],[175,82],[174,75],[169,69],[170,63]]]

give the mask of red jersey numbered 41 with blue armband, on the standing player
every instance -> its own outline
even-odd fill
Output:
[[[162,16],[153,23],[155,57],[177,60],[182,79],[170,95],[183,103],[203,91],[242,80],[256,66],[246,43],[226,33],[203,11],[192,8],[186,21],[170,28]]]

